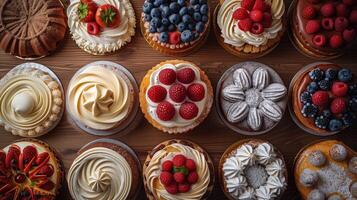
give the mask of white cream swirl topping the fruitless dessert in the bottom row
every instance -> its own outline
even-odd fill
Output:
[[[132,173],[122,155],[95,147],[73,161],[67,181],[72,197],[77,200],[125,200],[131,189]]]

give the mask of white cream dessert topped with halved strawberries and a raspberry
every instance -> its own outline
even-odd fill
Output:
[[[135,35],[135,13],[129,0],[72,0],[67,15],[73,40],[93,55],[119,50]]]

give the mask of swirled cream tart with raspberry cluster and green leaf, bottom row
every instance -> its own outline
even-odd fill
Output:
[[[207,199],[214,186],[213,163],[206,151],[186,140],[168,140],[147,156],[144,187],[148,199]]]

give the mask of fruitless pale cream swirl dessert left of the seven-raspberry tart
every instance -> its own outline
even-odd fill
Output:
[[[89,63],[68,85],[67,111],[90,134],[118,133],[136,117],[137,93],[134,77],[123,66],[109,61]]]

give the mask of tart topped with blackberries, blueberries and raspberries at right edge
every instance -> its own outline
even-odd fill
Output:
[[[311,134],[336,134],[356,122],[356,94],[351,70],[332,63],[312,63],[290,83],[290,114]]]

